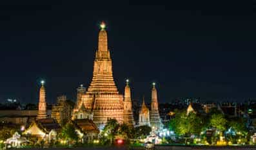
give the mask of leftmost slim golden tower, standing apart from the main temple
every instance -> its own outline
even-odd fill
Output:
[[[47,118],[46,113],[46,98],[45,98],[45,88],[44,88],[44,81],[41,81],[41,88],[39,91],[39,104],[38,104],[38,113],[37,119],[45,119]]]

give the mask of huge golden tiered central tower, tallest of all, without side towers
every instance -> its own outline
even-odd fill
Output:
[[[94,114],[93,121],[100,129],[108,119],[117,119],[119,123],[123,123],[123,95],[119,94],[113,81],[112,59],[104,23],[101,24],[101,31],[99,31],[92,81],[81,101],[73,113],[84,106],[86,111]]]

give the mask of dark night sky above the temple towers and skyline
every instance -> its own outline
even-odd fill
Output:
[[[254,4],[254,5],[253,5]],[[108,28],[119,92],[130,78],[134,99],[256,97],[255,2],[0,2],[0,97],[37,103],[88,87],[99,23]]]

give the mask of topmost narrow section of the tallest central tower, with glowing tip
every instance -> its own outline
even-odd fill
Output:
[[[108,51],[108,35],[106,33],[106,24],[101,22],[101,31],[99,31],[98,51]]]

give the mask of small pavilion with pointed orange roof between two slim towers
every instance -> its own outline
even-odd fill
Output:
[[[144,96],[141,110],[139,110],[139,126],[150,126],[150,110],[146,107]]]

